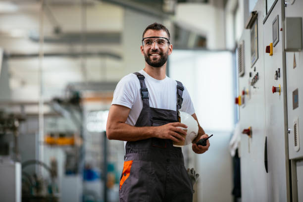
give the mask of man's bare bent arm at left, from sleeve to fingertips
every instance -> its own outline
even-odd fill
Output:
[[[175,122],[156,127],[135,127],[126,124],[130,108],[118,104],[112,104],[109,109],[106,136],[109,140],[138,141],[148,138],[170,139],[175,142],[183,141],[178,134],[186,135],[186,132],[178,127],[187,128],[185,124]]]

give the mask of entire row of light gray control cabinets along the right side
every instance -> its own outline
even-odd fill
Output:
[[[303,201],[302,9],[258,0],[238,43],[242,201]]]

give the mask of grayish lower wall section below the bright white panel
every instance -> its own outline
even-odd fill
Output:
[[[213,134],[207,152],[197,154],[198,202],[232,202],[233,165],[228,150],[230,133],[205,131]]]

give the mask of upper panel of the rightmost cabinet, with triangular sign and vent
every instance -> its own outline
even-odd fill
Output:
[[[303,1],[297,0],[293,4],[289,4],[285,7],[285,23],[286,26],[289,23],[292,24],[292,28],[286,27],[286,41],[287,33],[291,29],[296,32],[292,35],[296,35],[301,38],[301,41],[297,40],[296,46],[302,46],[302,18],[303,18]],[[298,23],[299,22],[299,23]],[[287,43],[287,42],[286,42]],[[296,44],[293,43],[294,45]],[[287,44],[285,44],[285,48]],[[289,44],[290,45],[290,44]],[[302,47],[301,47],[302,49]],[[298,159],[303,158],[303,137],[300,129],[303,129],[303,52],[302,51],[287,51],[286,52],[286,75],[287,75],[287,113],[288,113],[288,147],[289,158]],[[301,135],[301,137],[300,137]],[[301,145],[301,147],[299,147]]]

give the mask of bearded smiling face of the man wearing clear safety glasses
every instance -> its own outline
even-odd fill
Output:
[[[147,37],[165,37],[168,38],[167,33],[164,30],[148,30],[144,34],[144,38]],[[151,45],[141,46],[141,53],[144,55],[145,61],[152,67],[161,67],[165,64],[168,55],[172,52],[172,45],[165,39],[166,44],[156,43],[156,38],[151,38]]]

